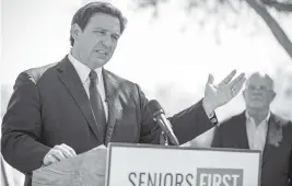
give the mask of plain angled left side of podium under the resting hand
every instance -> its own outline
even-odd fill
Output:
[[[95,148],[72,159],[43,166],[33,172],[33,186],[104,186],[105,148]]]

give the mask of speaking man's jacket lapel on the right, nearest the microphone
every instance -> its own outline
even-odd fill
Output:
[[[105,146],[112,139],[116,123],[122,117],[122,107],[119,100],[119,83],[117,80],[108,72],[103,69],[106,101],[108,105],[108,119],[107,119],[107,129],[105,137]]]

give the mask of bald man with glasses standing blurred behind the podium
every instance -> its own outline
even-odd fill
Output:
[[[292,124],[270,112],[276,96],[272,79],[253,73],[243,96],[246,111],[217,127],[212,147],[262,151],[261,186],[288,186],[292,177]]]

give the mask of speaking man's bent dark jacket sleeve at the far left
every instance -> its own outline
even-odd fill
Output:
[[[42,143],[40,101],[34,78],[22,72],[13,89],[2,120],[1,152],[11,166],[31,174],[40,167],[50,148]]]

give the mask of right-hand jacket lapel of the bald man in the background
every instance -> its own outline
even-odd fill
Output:
[[[268,132],[266,137],[266,144],[262,152],[262,164],[261,167],[266,164],[268,159],[273,152],[277,152],[277,148],[280,146],[283,138],[282,126],[279,124],[276,115],[271,113],[268,121]]]

